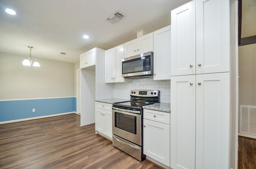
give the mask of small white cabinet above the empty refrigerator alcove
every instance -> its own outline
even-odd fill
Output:
[[[80,55],[80,69],[95,65],[95,48]]]

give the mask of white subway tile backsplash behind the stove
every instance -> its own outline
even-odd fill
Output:
[[[114,98],[130,99],[130,90],[160,90],[160,102],[170,103],[170,80],[131,79],[130,83],[114,83]]]

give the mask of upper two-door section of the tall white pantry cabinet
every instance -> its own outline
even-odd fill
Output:
[[[230,71],[229,1],[191,1],[171,22],[172,76]]]

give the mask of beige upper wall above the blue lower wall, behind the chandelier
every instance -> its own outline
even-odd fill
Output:
[[[36,58],[41,67],[28,67],[24,59],[0,53],[0,100],[75,96],[74,63]]]

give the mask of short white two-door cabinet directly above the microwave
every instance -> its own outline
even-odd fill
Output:
[[[153,32],[124,43],[124,57],[153,51]]]

